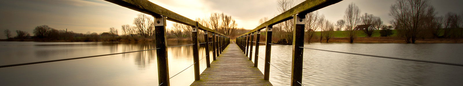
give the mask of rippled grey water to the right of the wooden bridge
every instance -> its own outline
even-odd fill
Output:
[[[317,48],[357,54],[406,59],[432,60],[463,64],[463,44],[459,43],[311,43]],[[259,46],[264,58],[265,46]],[[271,63],[291,75],[292,47],[272,45]],[[305,86],[462,86],[463,67],[383,59],[368,56],[304,49],[303,80]],[[263,71],[263,59],[259,70]],[[270,66],[270,82],[289,86],[290,80]]]

